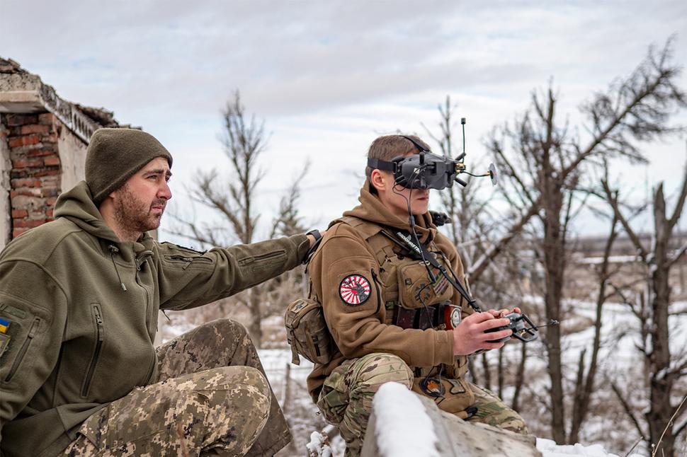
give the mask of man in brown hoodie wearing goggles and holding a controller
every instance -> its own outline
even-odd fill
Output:
[[[420,147],[429,150],[418,137],[379,137],[368,158],[389,162]],[[309,266],[310,299],[322,303],[336,351],[328,364],[315,365],[308,389],[327,421],[339,426],[346,456],[360,454],[372,398],[389,381],[463,419],[526,434],[517,412],[465,380],[469,354],[498,349],[504,342],[492,341],[511,335],[485,333],[508,325],[503,316],[510,311],[477,313],[438,268],[430,275],[409,213],[421,245],[465,286],[455,247],[428,214],[428,189],[404,188],[386,170],[368,166],[365,174],[360,205],[330,226]]]

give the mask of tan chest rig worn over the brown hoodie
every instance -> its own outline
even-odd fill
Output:
[[[385,324],[421,330],[445,330],[458,325],[460,308],[450,303],[453,288],[432,266],[429,268],[434,277],[429,277],[428,267],[421,260],[419,250],[414,252],[408,242],[404,246],[401,237],[407,235],[353,216],[344,216],[340,221],[356,228],[379,264],[379,276],[373,279],[380,288]],[[436,254],[443,267],[450,269],[448,259],[436,243],[431,242],[428,249]]]

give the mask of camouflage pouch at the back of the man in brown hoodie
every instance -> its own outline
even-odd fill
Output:
[[[322,304],[297,299],[286,307],[286,340],[291,346],[291,363],[300,365],[301,355],[314,364],[327,364],[333,355],[331,335],[324,320]]]

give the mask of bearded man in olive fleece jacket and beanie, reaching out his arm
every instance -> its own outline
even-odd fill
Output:
[[[314,237],[201,253],[154,241],[172,158],[98,129],[55,221],[0,253],[0,452],[268,456],[290,440],[241,325],[153,346],[159,309],[201,306],[290,270]]]

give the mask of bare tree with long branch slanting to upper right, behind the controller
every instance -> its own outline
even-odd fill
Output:
[[[650,48],[630,76],[595,94],[583,107],[586,141],[557,121],[557,96],[551,88],[533,93],[530,108],[513,127],[494,129],[489,137],[487,147],[508,182],[503,195],[519,215],[502,239],[507,243],[533,216],[540,228],[547,319],[560,320],[564,312],[569,223],[586,198],[577,192],[583,171],[604,158],[645,161],[635,141],[674,131],[667,120],[677,107],[686,105],[686,96],[675,86],[681,69],[671,64],[670,57],[671,40],[659,52]],[[483,272],[489,259],[503,248],[504,242],[495,243],[484,260],[475,262],[471,274]],[[551,433],[558,442],[566,440],[561,336],[559,327],[550,327],[543,338],[550,377]]]

